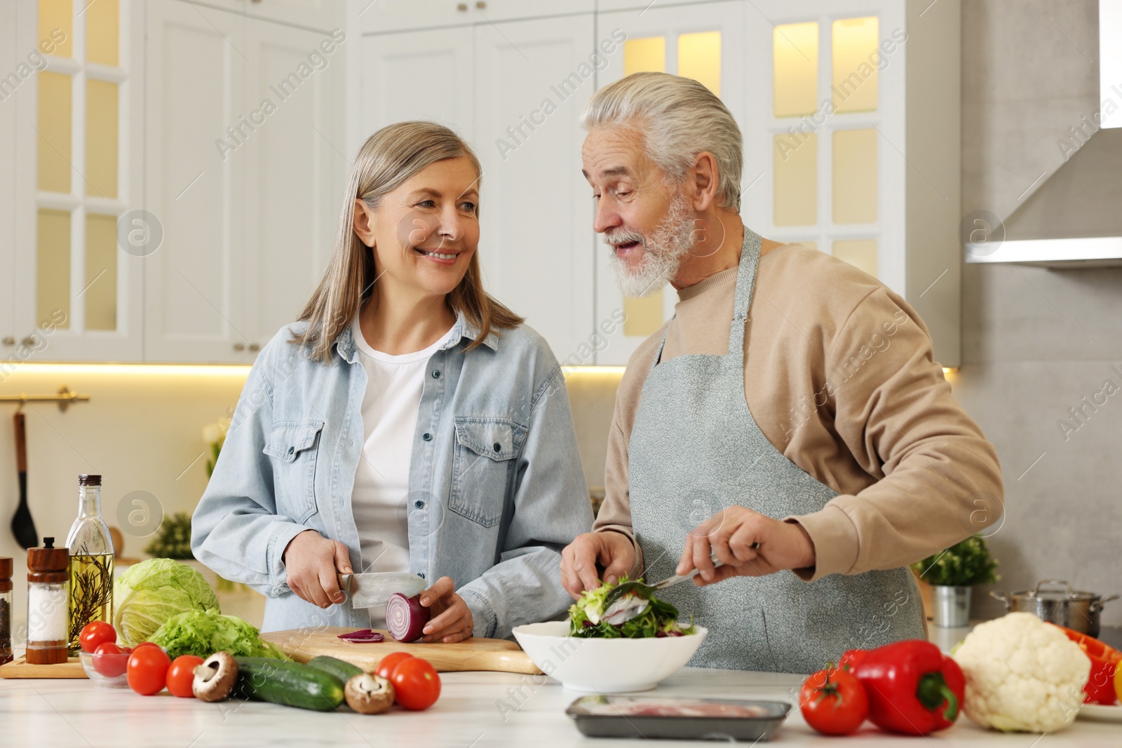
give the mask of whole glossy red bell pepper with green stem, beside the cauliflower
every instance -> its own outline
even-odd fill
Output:
[[[958,663],[930,641],[896,641],[856,659],[854,675],[868,695],[868,719],[881,729],[927,735],[955,723],[966,678]]]

